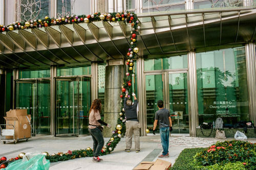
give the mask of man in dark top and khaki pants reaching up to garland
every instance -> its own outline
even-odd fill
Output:
[[[135,150],[136,153],[140,152],[140,124],[138,120],[138,115],[137,115],[137,105],[138,105],[138,100],[135,96],[135,93],[133,93],[134,97],[134,104],[132,103],[132,100],[128,99],[128,91],[125,91],[125,98],[124,98],[124,103],[123,103],[123,108],[125,112],[125,117],[126,117],[126,149],[124,150],[125,152],[130,152],[131,147],[132,147],[132,139],[133,139],[133,134],[134,134],[134,140],[135,140]]]

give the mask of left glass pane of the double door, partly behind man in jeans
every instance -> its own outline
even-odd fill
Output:
[[[153,130],[155,114],[158,110],[157,101],[163,100],[162,74],[146,75],[146,122],[147,128]],[[158,126],[156,130],[159,130]],[[159,132],[158,132],[159,133]]]

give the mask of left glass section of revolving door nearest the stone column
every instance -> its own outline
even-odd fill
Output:
[[[78,78],[56,79],[56,136],[78,136]]]

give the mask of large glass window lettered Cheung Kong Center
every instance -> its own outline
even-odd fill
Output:
[[[199,124],[249,121],[245,47],[196,54]]]

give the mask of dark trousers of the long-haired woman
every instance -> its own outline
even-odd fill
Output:
[[[104,146],[104,138],[98,127],[94,129],[89,128],[89,133],[93,137],[93,155],[94,157],[98,157],[102,147]]]

